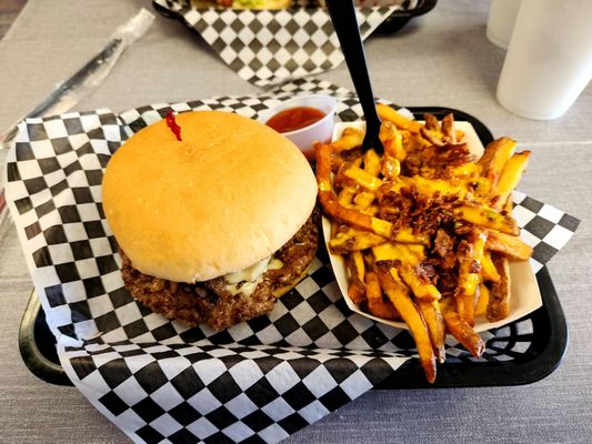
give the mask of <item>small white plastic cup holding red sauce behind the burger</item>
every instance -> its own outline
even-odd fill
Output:
[[[290,139],[298,148],[300,148],[300,151],[304,153],[308,160],[313,160],[314,142],[330,142],[333,135],[335,111],[338,108],[338,101],[335,98],[322,94],[299,95],[282,102],[278,107],[263,111],[259,114],[257,120],[261,123],[267,123],[268,120],[281,111],[299,107],[317,108],[325,114],[318,122],[300,130],[282,132],[282,135]]]

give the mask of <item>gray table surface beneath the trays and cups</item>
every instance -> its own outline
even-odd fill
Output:
[[[0,42],[0,130],[73,73],[141,6],[150,2],[29,0]],[[367,393],[287,442],[592,442],[592,87],[556,121],[505,111],[494,98],[504,51],[485,38],[488,11],[488,1],[441,0],[398,34],[372,37],[367,52],[374,92],[405,105],[464,110],[494,135],[513,137],[533,152],[520,190],[583,221],[549,265],[570,327],[565,359],[528,386]],[[351,88],[344,65],[319,77]],[[259,91],[181,24],[158,17],[77,110]],[[4,157],[0,151],[0,164]],[[23,365],[18,327],[32,285],[14,230],[0,235],[0,442],[127,442],[76,389],[46,384]]]

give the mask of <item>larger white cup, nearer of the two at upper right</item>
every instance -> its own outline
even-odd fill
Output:
[[[591,79],[592,1],[522,0],[498,101],[529,119],[558,119]]]

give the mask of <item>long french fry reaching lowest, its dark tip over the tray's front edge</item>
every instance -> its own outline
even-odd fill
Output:
[[[425,379],[433,383],[435,381],[435,355],[433,352],[430,334],[425,321],[421,316],[418,306],[409,297],[405,285],[395,281],[388,269],[379,265],[380,285],[387,293],[403,321],[409,325],[411,335],[415,340],[421,366],[425,373]]]

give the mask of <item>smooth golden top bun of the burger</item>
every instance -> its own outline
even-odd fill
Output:
[[[175,117],[131,137],[110,159],[103,210],[133,266],[175,282],[245,269],[310,216],[314,174],[300,150],[253,120],[220,111]]]

